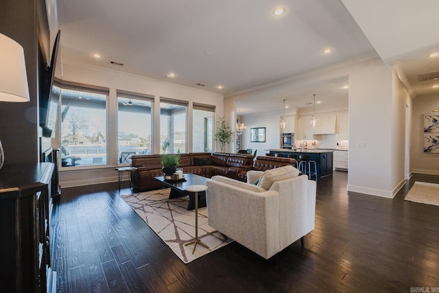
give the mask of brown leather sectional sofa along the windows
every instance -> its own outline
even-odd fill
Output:
[[[221,152],[193,152],[180,154],[180,165],[184,173],[192,173],[207,178],[222,175],[246,182],[247,172],[251,169],[265,171],[285,165],[295,165],[295,159],[257,156],[252,154],[228,154]],[[162,176],[160,154],[138,154],[131,156],[131,165],[137,169],[131,172],[134,191],[146,191],[163,188],[154,177]]]

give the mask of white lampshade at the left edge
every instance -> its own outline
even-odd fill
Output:
[[[0,101],[29,102],[23,47],[0,34]]]

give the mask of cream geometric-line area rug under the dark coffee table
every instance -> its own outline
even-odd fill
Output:
[[[187,210],[189,196],[169,199],[170,190],[158,189],[121,196],[121,198],[184,263],[189,263],[233,242],[232,239],[209,226],[207,209],[203,207],[198,209],[198,239],[209,246],[209,249],[197,244],[195,253],[192,254],[193,244],[188,246],[185,244],[195,239],[195,210]]]

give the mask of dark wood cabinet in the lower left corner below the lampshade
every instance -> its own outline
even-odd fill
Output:
[[[54,292],[49,220],[52,163],[0,169],[0,284],[4,292]]]

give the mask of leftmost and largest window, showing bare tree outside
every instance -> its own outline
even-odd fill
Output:
[[[108,90],[62,84],[61,166],[106,165]]]

